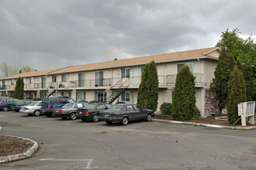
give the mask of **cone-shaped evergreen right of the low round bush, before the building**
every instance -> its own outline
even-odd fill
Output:
[[[195,107],[195,76],[189,66],[182,66],[175,80],[175,95],[171,116],[178,121],[192,120]]]

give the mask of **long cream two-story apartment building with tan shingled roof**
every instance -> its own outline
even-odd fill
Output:
[[[202,117],[206,117],[216,109],[215,105],[209,104],[213,98],[209,84],[219,55],[220,48],[211,47],[20,73],[0,79],[0,95],[12,96],[16,80],[21,76],[25,97],[46,97],[51,90],[54,95],[69,96],[75,100],[106,101],[112,93],[123,89],[116,101],[136,104],[144,65],[154,60],[159,80],[158,110],[163,102],[172,103],[176,75],[183,65],[188,65],[195,76],[196,106]]]

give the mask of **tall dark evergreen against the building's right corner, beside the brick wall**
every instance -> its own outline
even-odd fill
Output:
[[[216,69],[214,71],[213,82],[210,89],[216,93],[216,100],[219,100],[219,114],[227,105],[227,82],[230,79],[230,73],[234,69],[234,56],[228,55],[226,48],[221,50]]]

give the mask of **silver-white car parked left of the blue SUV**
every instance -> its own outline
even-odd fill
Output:
[[[28,114],[29,116],[40,116],[41,112],[41,106],[42,101],[33,101],[31,104],[28,104],[26,106],[21,106],[19,113],[21,114]]]

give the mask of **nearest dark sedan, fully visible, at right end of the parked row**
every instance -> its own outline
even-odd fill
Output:
[[[99,121],[106,121],[107,124],[120,122],[126,125],[129,121],[151,121],[152,117],[154,117],[153,110],[143,109],[137,104],[115,104],[99,113]]]

